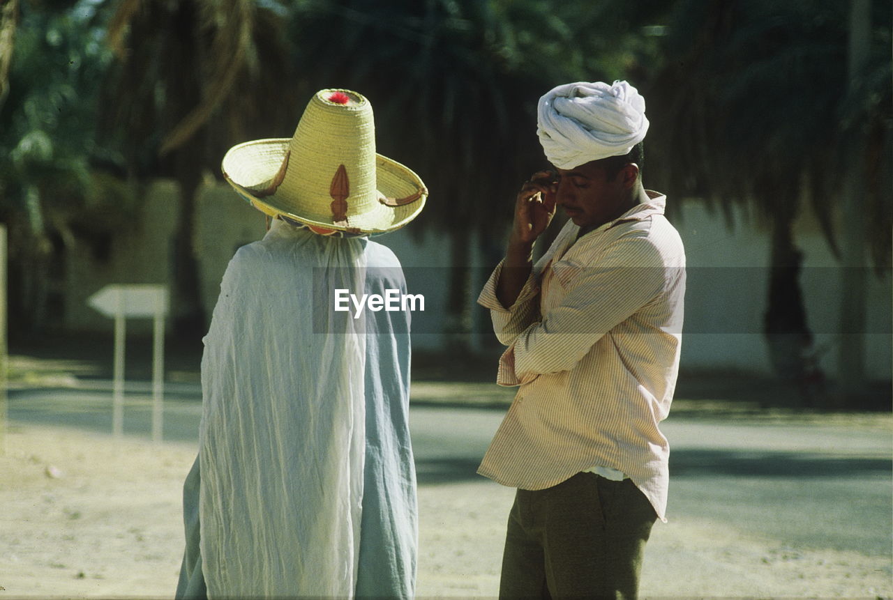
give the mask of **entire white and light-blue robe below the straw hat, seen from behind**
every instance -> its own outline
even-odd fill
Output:
[[[355,319],[336,289],[405,282],[378,243],[279,221],[230,261],[204,338],[178,596],[196,581],[209,597],[413,596],[409,316]]]

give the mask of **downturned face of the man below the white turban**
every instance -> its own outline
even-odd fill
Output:
[[[612,178],[604,166],[593,161],[555,171],[559,176],[555,201],[580,229],[595,229],[628,210],[630,186],[625,169]]]

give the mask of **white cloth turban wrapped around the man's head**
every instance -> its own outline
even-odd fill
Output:
[[[645,98],[625,81],[564,84],[539,99],[539,143],[557,168],[622,156],[647,130]]]

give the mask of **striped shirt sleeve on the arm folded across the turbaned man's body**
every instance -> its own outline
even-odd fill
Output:
[[[596,265],[566,268],[555,277],[567,292],[541,322],[515,336],[500,359],[503,385],[571,370],[605,333],[660,294],[666,272],[652,244],[634,238],[614,244]]]

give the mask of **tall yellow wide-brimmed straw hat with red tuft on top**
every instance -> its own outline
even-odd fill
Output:
[[[222,169],[255,208],[317,234],[386,234],[428,197],[421,177],[375,152],[371,103],[345,89],[313,95],[291,139],[233,146]]]

